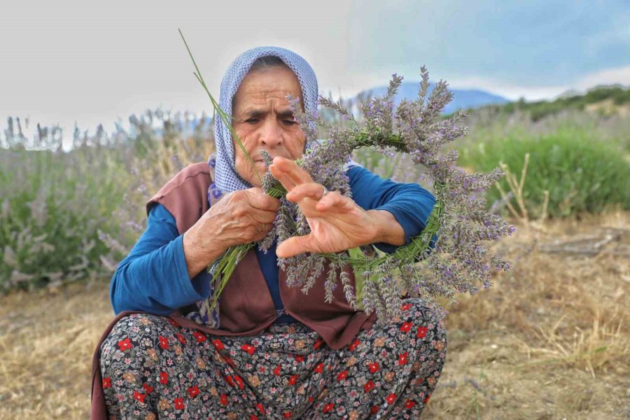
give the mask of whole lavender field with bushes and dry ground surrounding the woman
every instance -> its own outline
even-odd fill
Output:
[[[493,245],[514,268],[451,307],[423,418],[629,418],[629,108],[467,121],[461,166],[507,172],[488,204],[517,227]],[[213,150],[209,118],[162,111],[71,138],[64,151],[59,130],[15,119],[0,136],[0,419],[87,416],[109,279],[144,230],[144,202]],[[405,156],[355,158],[419,181]]]

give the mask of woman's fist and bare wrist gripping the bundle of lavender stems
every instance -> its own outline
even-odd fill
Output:
[[[183,237],[188,276],[193,279],[231,246],[260,241],[271,230],[280,200],[261,188],[225,195]]]

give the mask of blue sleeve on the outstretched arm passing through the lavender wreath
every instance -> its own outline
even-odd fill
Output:
[[[433,211],[435,197],[416,183],[396,183],[382,179],[364,167],[348,169],[352,198],[364,210],[389,211],[405,231],[405,245],[426,227]],[[436,237],[433,237],[432,245]],[[398,246],[380,242],[374,244],[381,251],[393,253]]]

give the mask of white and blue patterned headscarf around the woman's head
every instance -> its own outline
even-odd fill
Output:
[[[228,115],[232,115],[232,98],[251,65],[260,57],[273,56],[281,59],[289,69],[293,70],[302,88],[302,102],[305,113],[315,113],[317,110],[317,78],[315,72],[305,59],[295,52],[279,47],[258,47],[243,52],[230,64],[221,81],[221,97],[219,106]],[[216,188],[223,194],[235,190],[244,190],[251,185],[241,179],[235,168],[235,149],[230,130],[221,118],[216,118],[214,137],[216,143]]]

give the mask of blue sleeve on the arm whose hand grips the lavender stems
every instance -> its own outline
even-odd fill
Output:
[[[183,235],[175,218],[162,204],[148,215],[145,232],[123,259],[111,279],[114,312],[146,311],[170,314],[210,293],[210,275],[202,270],[193,279],[183,253]]]

